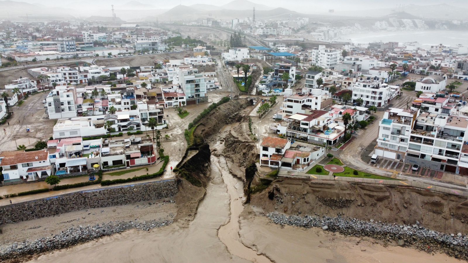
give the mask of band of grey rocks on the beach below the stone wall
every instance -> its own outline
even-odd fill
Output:
[[[52,237],[15,242],[7,247],[2,247],[0,248],[0,262],[5,262],[6,260],[15,260],[16,262],[26,256],[37,255],[55,249],[68,248],[79,243],[91,241],[102,236],[121,233],[129,229],[149,231],[156,227],[168,226],[172,224],[172,222],[172,220],[151,220],[142,223],[136,221],[111,221],[94,226],[71,227]]]

